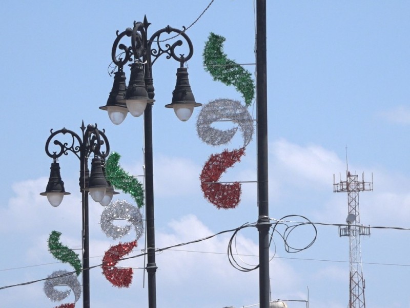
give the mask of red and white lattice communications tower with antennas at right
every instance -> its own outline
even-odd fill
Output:
[[[339,176],[340,177],[340,176]],[[349,308],[365,308],[364,302],[364,279],[362,271],[362,258],[360,251],[360,236],[370,235],[370,227],[365,227],[360,224],[359,214],[359,192],[373,190],[373,175],[372,182],[364,182],[364,174],[362,181],[359,182],[357,175],[352,175],[346,170],[346,181],[340,178],[339,183],[336,183],[333,175],[333,192],[347,192],[348,214],[346,218],[346,227],[339,227],[339,236],[347,236],[349,238],[349,256],[350,256],[350,292],[349,292]]]

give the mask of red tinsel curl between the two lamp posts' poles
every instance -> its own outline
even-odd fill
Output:
[[[118,261],[128,255],[137,246],[137,241],[111,246],[103,258],[103,275],[113,285],[129,287],[132,282],[132,268],[116,268]]]

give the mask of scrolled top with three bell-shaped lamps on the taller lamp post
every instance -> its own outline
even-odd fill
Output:
[[[154,86],[152,79],[152,65],[162,54],[167,54],[167,59],[174,59],[180,63],[177,69],[177,81],[175,90],[172,92],[172,101],[165,105],[167,108],[173,108],[176,116],[181,121],[187,121],[194,110],[194,107],[201,106],[195,102],[194,95],[191,91],[191,86],[188,80],[188,70],[183,67],[184,64],[191,59],[194,49],[192,42],[185,31],[167,26],[155,32],[151,38],[147,38],[147,29],[151,24],[148,23],[147,17],[144,18],[144,23],[134,22],[134,27],[127,28],[125,31],[118,34],[114,41],[111,57],[113,63],[118,67],[114,73],[114,84],[110,92],[107,104],[99,107],[107,110],[111,121],[114,124],[121,124],[130,112],[134,117],[139,117],[144,111],[152,107],[154,103]],[[162,33],[177,33],[174,37],[185,39],[188,44],[189,53],[187,56],[175,54],[175,48],[181,46],[183,42],[177,40],[174,44],[166,44],[166,49],[160,46],[162,42],[168,40],[160,40]],[[131,46],[127,47],[124,44],[119,44],[124,36],[131,37]],[[152,43],[156,43],[153,47]],[[124,58],[117,57],[117,49],[122,50]],[[153,59],[153,60],[152,60]],[[126,87],[126,75],[123,70],[124,65],[130,64],[131,75],[128,87]],[[150,111],[149,111],[150,112]]]

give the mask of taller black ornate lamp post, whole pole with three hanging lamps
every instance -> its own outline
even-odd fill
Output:
[[[193,112],[194,107],[201,106],[195,102],[194,95],[188,80],[188,71],[184,64],[191,59],[194,52],[192,42],[185,31],[167,26],[156,31],[149,39],[147,35],[150,23],[147,17],[144,22],[134,22],[134,27],[127,28],[118,34],[112,47],[112,61],[117,65],[118,70],[114,75],[114,85],[110,92],[107,104],[100,109],[107,110],[111,121],[120,124],[130,112],[134,117],[144,113],[144,134],[145,134],[145,168],[146,168],[146,220],[147,220],[147,273],[148,273],[148,305],[149,308],[156,307],[156,281],[155,273],[157,265],[155,263],[155,230],[154,230],[154,184],[153,184],[153,159],[152,159],[152,104],[154,102],[154,86],[152,79],[152,65],[162,54],[166,54],[167,59],[174,59],[180,63],[177,69],[177,80],[175,90],[172,95],[172,102],[165,107],[173,108],[178,119],[187,121]],[[162,33],[175,34],[177,41],[173,44],[168,40],[161,40]],[[119,44],[124,36],[131,37],[131,46]],[[172,37],[172,38],[174,38]],[[175,53],[175,49],[181,46],[185,40],[188,44],[188,55]],[[167,42],[166,42],[167,41]],[[166,42],[165,48],[161,43]],[[153,43],[154,46],[153,46]],[[116,51],[123,51],[123,57],[117,57]],[[126,76],[123,71],[124,65],[132,62],[130,82],[126,87]]]

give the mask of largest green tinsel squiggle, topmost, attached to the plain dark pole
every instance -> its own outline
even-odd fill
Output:
[[[223,53],[223,42],[226,38],[215,33],[210,34],[203,50],[203,65],[214,81],[220,81],[242,93],[245,105],[250,106],[255,98],[255,85],[252,74],[242,66],[228,59]]]

